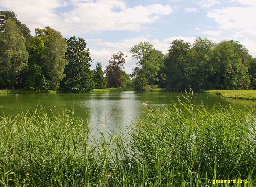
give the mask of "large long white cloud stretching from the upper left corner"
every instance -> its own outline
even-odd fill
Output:
[[[57,13],[56,8],[67,5],[72,9]],[[0,6],[14,11],[31,31],[49,25],[64,35],[105,30],[140,31],[145,24],[155,23],[162,15],[172,12],[167,5],[131,8],[121,0],[71,0],[68,3],[61,0],[1,0]]]

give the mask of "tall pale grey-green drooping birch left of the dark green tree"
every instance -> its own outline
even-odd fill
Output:
[[[65,58],[67,52],[67,43],[62,38],[60,32],[55,31],[50,27],[45,29],[35,29],[36,36],[40,37],[44,41],[45,50],[42,54],[42,71],[48,86],[57,89],[60,81],[65,77],[63,70],[68,61]],[[42,47],[43,48],[43,47]]]

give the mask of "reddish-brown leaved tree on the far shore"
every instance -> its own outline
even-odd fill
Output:
[[[113,53],[109,60],[109,65],[105,69],[106,78],[108,80],[108,87],[121,87],[124,80],[122,79],[122,70],[124,69],[124,63],[127,55],[122,52]]]

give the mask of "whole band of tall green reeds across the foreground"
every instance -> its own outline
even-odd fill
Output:
[[[110,133],[97,142],[72,111],[46,114],[38,108],[4,116],[0,184],[226,187],[212,180],[236,180],[231,186],[255,186],[253,112],[221,106],[208,110],[184,99],[164,109],[145,109],[125,136],[130,141]]]

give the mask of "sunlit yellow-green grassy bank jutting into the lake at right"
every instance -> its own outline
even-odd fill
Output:
[[[207,90],[205,92],[233,99],[256,100],[256,90]]]

